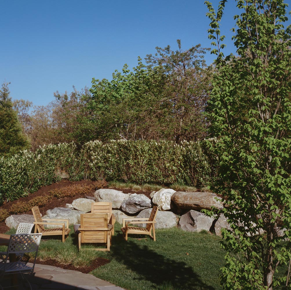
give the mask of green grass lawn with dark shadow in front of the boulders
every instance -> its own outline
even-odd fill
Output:
[[[219,268],[225,254],[219,246],[221,238],[172,228],[157,229],[156,242],[148,236],[146,240],[134,239],[144,238],[138,235],[129,235],[126,242],[120,227],[115,224],[110,252],[95,251],[86,245],[78,252],[71,230],[65,243],[41,241],[38,258],[73,265],[86,265],[95,257],[107,258],[110,263],[91,274],[129,290],[221,289]]]

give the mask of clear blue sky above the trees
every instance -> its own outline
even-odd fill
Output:
[[[287,3],[290,2],[286,1]],[[215,8],[219,3],[213,0]],[[227,3],[221,30],[224,53],[231,42],[235,1]],[[114,70],[155,47],[210,47],[204,0],[88,1],[0,0],[0,81],[11,82],[10,96],[47,105],[53,93],[91,87],[91,80],[111,79]],[[214,56],[205,59],[212,63]]]

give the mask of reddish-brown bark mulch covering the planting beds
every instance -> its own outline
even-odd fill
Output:
[[[82,185],[90,185],[92,184],[93,181],[86,181],[86,180],[82,180],[82,181],[69,181],[66,179],[63,179],[61,181],[59,181],[58,183],[53,183],[51,185],[47,185],[47,186],[42,186],[38,191],[29,194],[27,197],[21,197],[15,201],[10,201],[6,204],[3,204],[0,208],[5,208],[9,211],[10,207],[17,203],[18,201],[29,201],[30,199],[37,197],[37,196],[46,196],[49,195],[49,191],[53,190],[53,189],[58,189],[58,188],[62,188],[64,186],[68,186],[68,185],[74,185],[74,184],[82,184]],[[105,187],[105,188],[109,188],[109,187]],[[131,190],[131,189],[118,189],[118,188],[112,188],[112,189],[116,189],[116,190],[120,190],[124,193],[137,193],[137,194],[145,194],[147,197],[150,198],[150,192],[149,191],[135,191],[135,190]],[[63,198],[57,198],[57,197],[53,197],[52,199],[49,200],[49,203],[45,206],[40,207],[40,213],[42,215],[46,214],[46,211],[48,209],[52,209],[52,208],[56,208],[56,207],[66,207],[66,204],[71,204],[72,201],[74,199],[77,198],[84,198],[85,195],[87,196],[93,196],[94,195],[95,190],[92,190],[91,192],[88,192],[87,194],[76,194],[74,196],[71,197],[63,197]],[[31,210],[24,212],[25,214],[29,214],[32,215]],[[24,214],[24,213],[19,213],[19,214]],[[5,232],[7,232],[9,230],[9,228],[6,226],[5,222],[0,222],[0,233],[3,234]],[[86,267],[80,267],[80,268],[76,268],[72,265],[63,265],[60,264],[58,262],[56,262],[53,259],[48,259],[45,261],[40,261],[39,259],[37,259],[36,263],[37,264],[43,264],[43,265],[51,265],[51,266],[57,266],[63,269],[69,269],[69,270],[76,270],[76,271],[80,271],[82,273],[89,273],[92,270],[96,269],[99,266],[105,265],[107,263],[109,263],[110,261],[108,259],[104,259],[104,258],[97,258],[95,261],[92,262],[92,264],[90,266],[86,266]]]

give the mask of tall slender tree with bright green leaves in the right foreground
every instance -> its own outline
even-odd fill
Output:
[[[290,289],[291,30],[283,0],[236,0],[237,56],[223,56],[219,22],[226,0],[209,8],[217,72],[208,112],[225,197],[223,289]],[[289,242],[286,242],[287,239]],[[288,268],[289,267],[289,268]],[[280,268],[280,271],[278,271]],[[281,288],[280,288],[281,289]]]

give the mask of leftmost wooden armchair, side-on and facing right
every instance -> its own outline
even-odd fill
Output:
[[[40,211],[38,209],[38,206],[34,206],[31,209],[34,217],[34,232],[36,233],[37,231],[39,233],[42,233],[42,236],[54,236],[54,235],[61,235],[62,236],[62,242],[65,242],[65,236],[67,236],[70,232],[69,229],[69,220],[66,219],[42,219],[40,215]],[[46,221],[52,221],[52,222],[46,222]],[[65,226],[65,223],[67,223],[67,226]],[[45,229],[44,225],[58,225],[62,226],[59,228],[52,228],[52,229]]]

